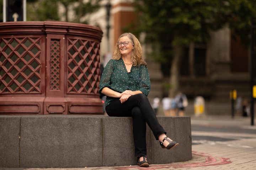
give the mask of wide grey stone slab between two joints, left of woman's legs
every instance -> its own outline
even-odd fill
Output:
[[[33,116],[21,119],[21,167],[101,166],[101,118]]]

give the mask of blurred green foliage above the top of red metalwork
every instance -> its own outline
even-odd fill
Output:
[[[64,16],[66,22],[81,22],[80,18],[94,12],[100,5],[101,0],[27,0],[27,20],[46,21],[60,20]],[[59,13],[59,8],[64,8],[64,13]],[[69,11],[75,15],[69,17]],[[70,19],[72,18],[72,19]],[[86,21],[83,21],[86,23]]]

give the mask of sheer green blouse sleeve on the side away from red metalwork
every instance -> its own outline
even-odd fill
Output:
[[[145,65],[140,66],[140,83],[136,90],[140,90],[145,96],[148,96],[150,91],[150,78],[148,68]]]

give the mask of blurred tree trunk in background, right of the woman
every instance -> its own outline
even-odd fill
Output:
[[[174,47],[174,58],[171,65],[171,75],[170,75],[170,84],[172,88],[169,90],[169,96],[175,97],[178,91],[179,86],[179,70],[180,70],[180,59],[181,59],[182,47],[176,45]]]

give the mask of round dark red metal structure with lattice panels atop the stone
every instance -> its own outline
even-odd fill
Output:
[[[0,23],[0,114],[102,114],[100,28]]]

